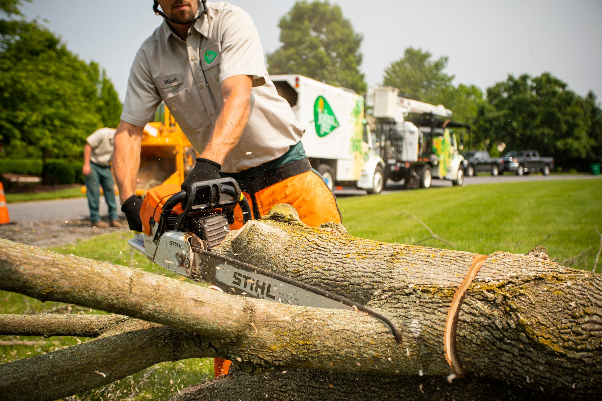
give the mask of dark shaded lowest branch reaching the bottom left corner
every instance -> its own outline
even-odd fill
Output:
[[[94,340],[0,364],[0,399],[61,399],[160,362],[216,356],[208,341],[193,333],[123,316],[114,318],[111,322],[107,319],[107,331]],[[69,332],[68,322],[60,323],[62,331]],[[90,323],[84,325],[92,328]],[[40,326],[46,332],[45,324]],[[88,334],[95,332],[88,330]]]

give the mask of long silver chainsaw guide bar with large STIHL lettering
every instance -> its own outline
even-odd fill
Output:
[[[226,292],[269,299],[281,304],[362,311],[380,320],[389,328],[397,343],[402,343],[402,337],[391,320],[362,304],[196,246],[192,246],[191,249],[198,258],[203,280],[215,284]]]

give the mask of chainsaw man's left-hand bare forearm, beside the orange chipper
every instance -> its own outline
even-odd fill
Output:
[[[121,121],[115,133],[113,171],[121,203],[136,193],[143,128]]]

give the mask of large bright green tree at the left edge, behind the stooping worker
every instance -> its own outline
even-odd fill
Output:
[[[19,4],[5,1],[2,11],[17,14]],[[8,153],[34,147],[43,158],[79,158],[86,136],[116,126],[120,109],[98,64],[80,60],[37,20],[0,20],[0,142]]]

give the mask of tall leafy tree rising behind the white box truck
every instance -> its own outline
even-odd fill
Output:
[[[367,88],[359,71],[363,36],[341,7],[328,1],[297,1],[278,24],[281,47],[267,55],[272,73],[296,73],[353,89]]]

